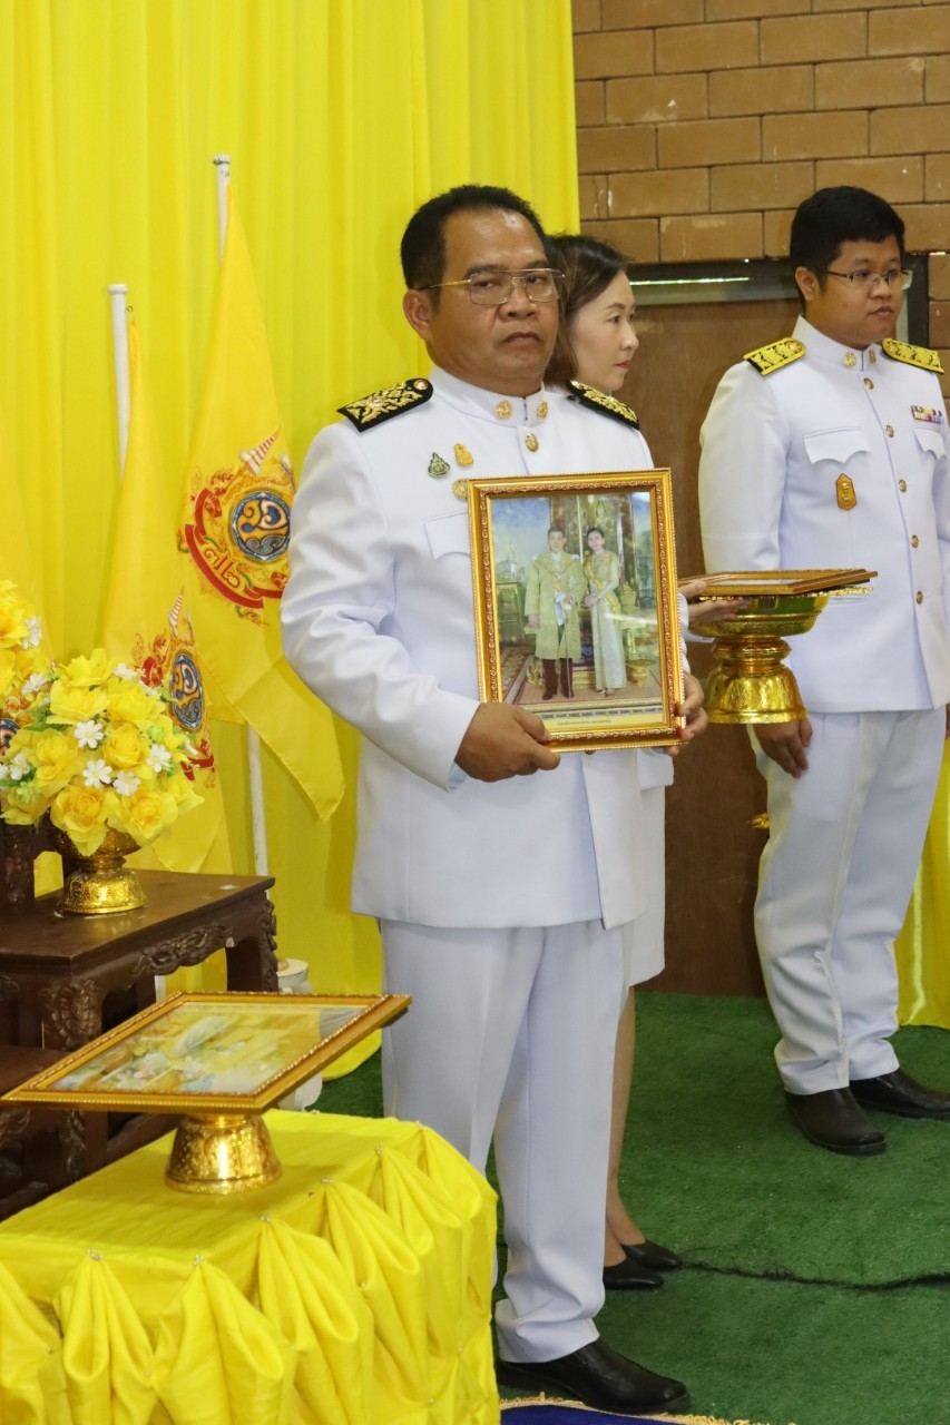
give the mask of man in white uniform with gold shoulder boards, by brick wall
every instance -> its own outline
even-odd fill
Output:
[[[889,339],[904,225],[863,188],[800,205],[805,316],[723,376],[702,430],[706,567],[877,570],[790,640],[809,717],[759,725],[769,842],[756,938],[792,1120],[867,1154],[866,1107],[950,1119],[897,1064],[893,940],[913,889],[950,701],[947,422],[934,352]]]

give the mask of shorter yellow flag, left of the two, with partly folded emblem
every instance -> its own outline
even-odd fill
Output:
[[[106,601],[106,650],[164,683],[171,710],[195,750],[194,787],[201,805],[138,856],[168,871],[231,869],[221,784],[208,732],[207,675],[185,604],[184,560],[177,547],[177,499],[158,453],[154,413],[136,323],[128,325],[130,419],[118,497],[116,546]],[[144,862],[138,862],[144,864]]]

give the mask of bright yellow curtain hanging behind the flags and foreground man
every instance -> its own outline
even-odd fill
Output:
[[[223,151],[300,469],[338,405],[425,369],[399,308],[414,207],[499,182],[576,228],[569,0],[0,0],[0,409],[61,654],[94,644],[108,584],[106,289],[128,284],[177,493]],[[242,734],[214,734],[234,869],[251,871]],[[327,826],[265,758],[280,946],[317,989],[372,990],[375,928],[348,911],[357,745],[339,741],[351,789]]]

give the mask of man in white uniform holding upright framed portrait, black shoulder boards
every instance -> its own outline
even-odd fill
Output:
[[[402,239],[404,312],[435,362],[342,409],[294,503],[287,657],[364,734],[352,905],[412,995],[387,1112],[478,1168],[495,1137],[508,1270],[499,1379],[603,1409],[683,1387],[598,1338],[620,928],[645,906],[632,752],[563,758],[478,703],[465,476],[650,466],[632,412],[545,390],[556,275],[533,211],[466,187]],[[682,711],[700,724],[699,691]],[[703,715],[705,717],[705,715]],[[538,775],[532,775],[538,774]]]

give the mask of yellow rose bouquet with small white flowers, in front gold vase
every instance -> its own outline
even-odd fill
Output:
[[[161,687],[103,648],[51,664],[24,684],[19,730],[0,757],[0,814],[20,826],[48,811],[81,856],[108,828],[140,846],[201,798],[185,734]]]

